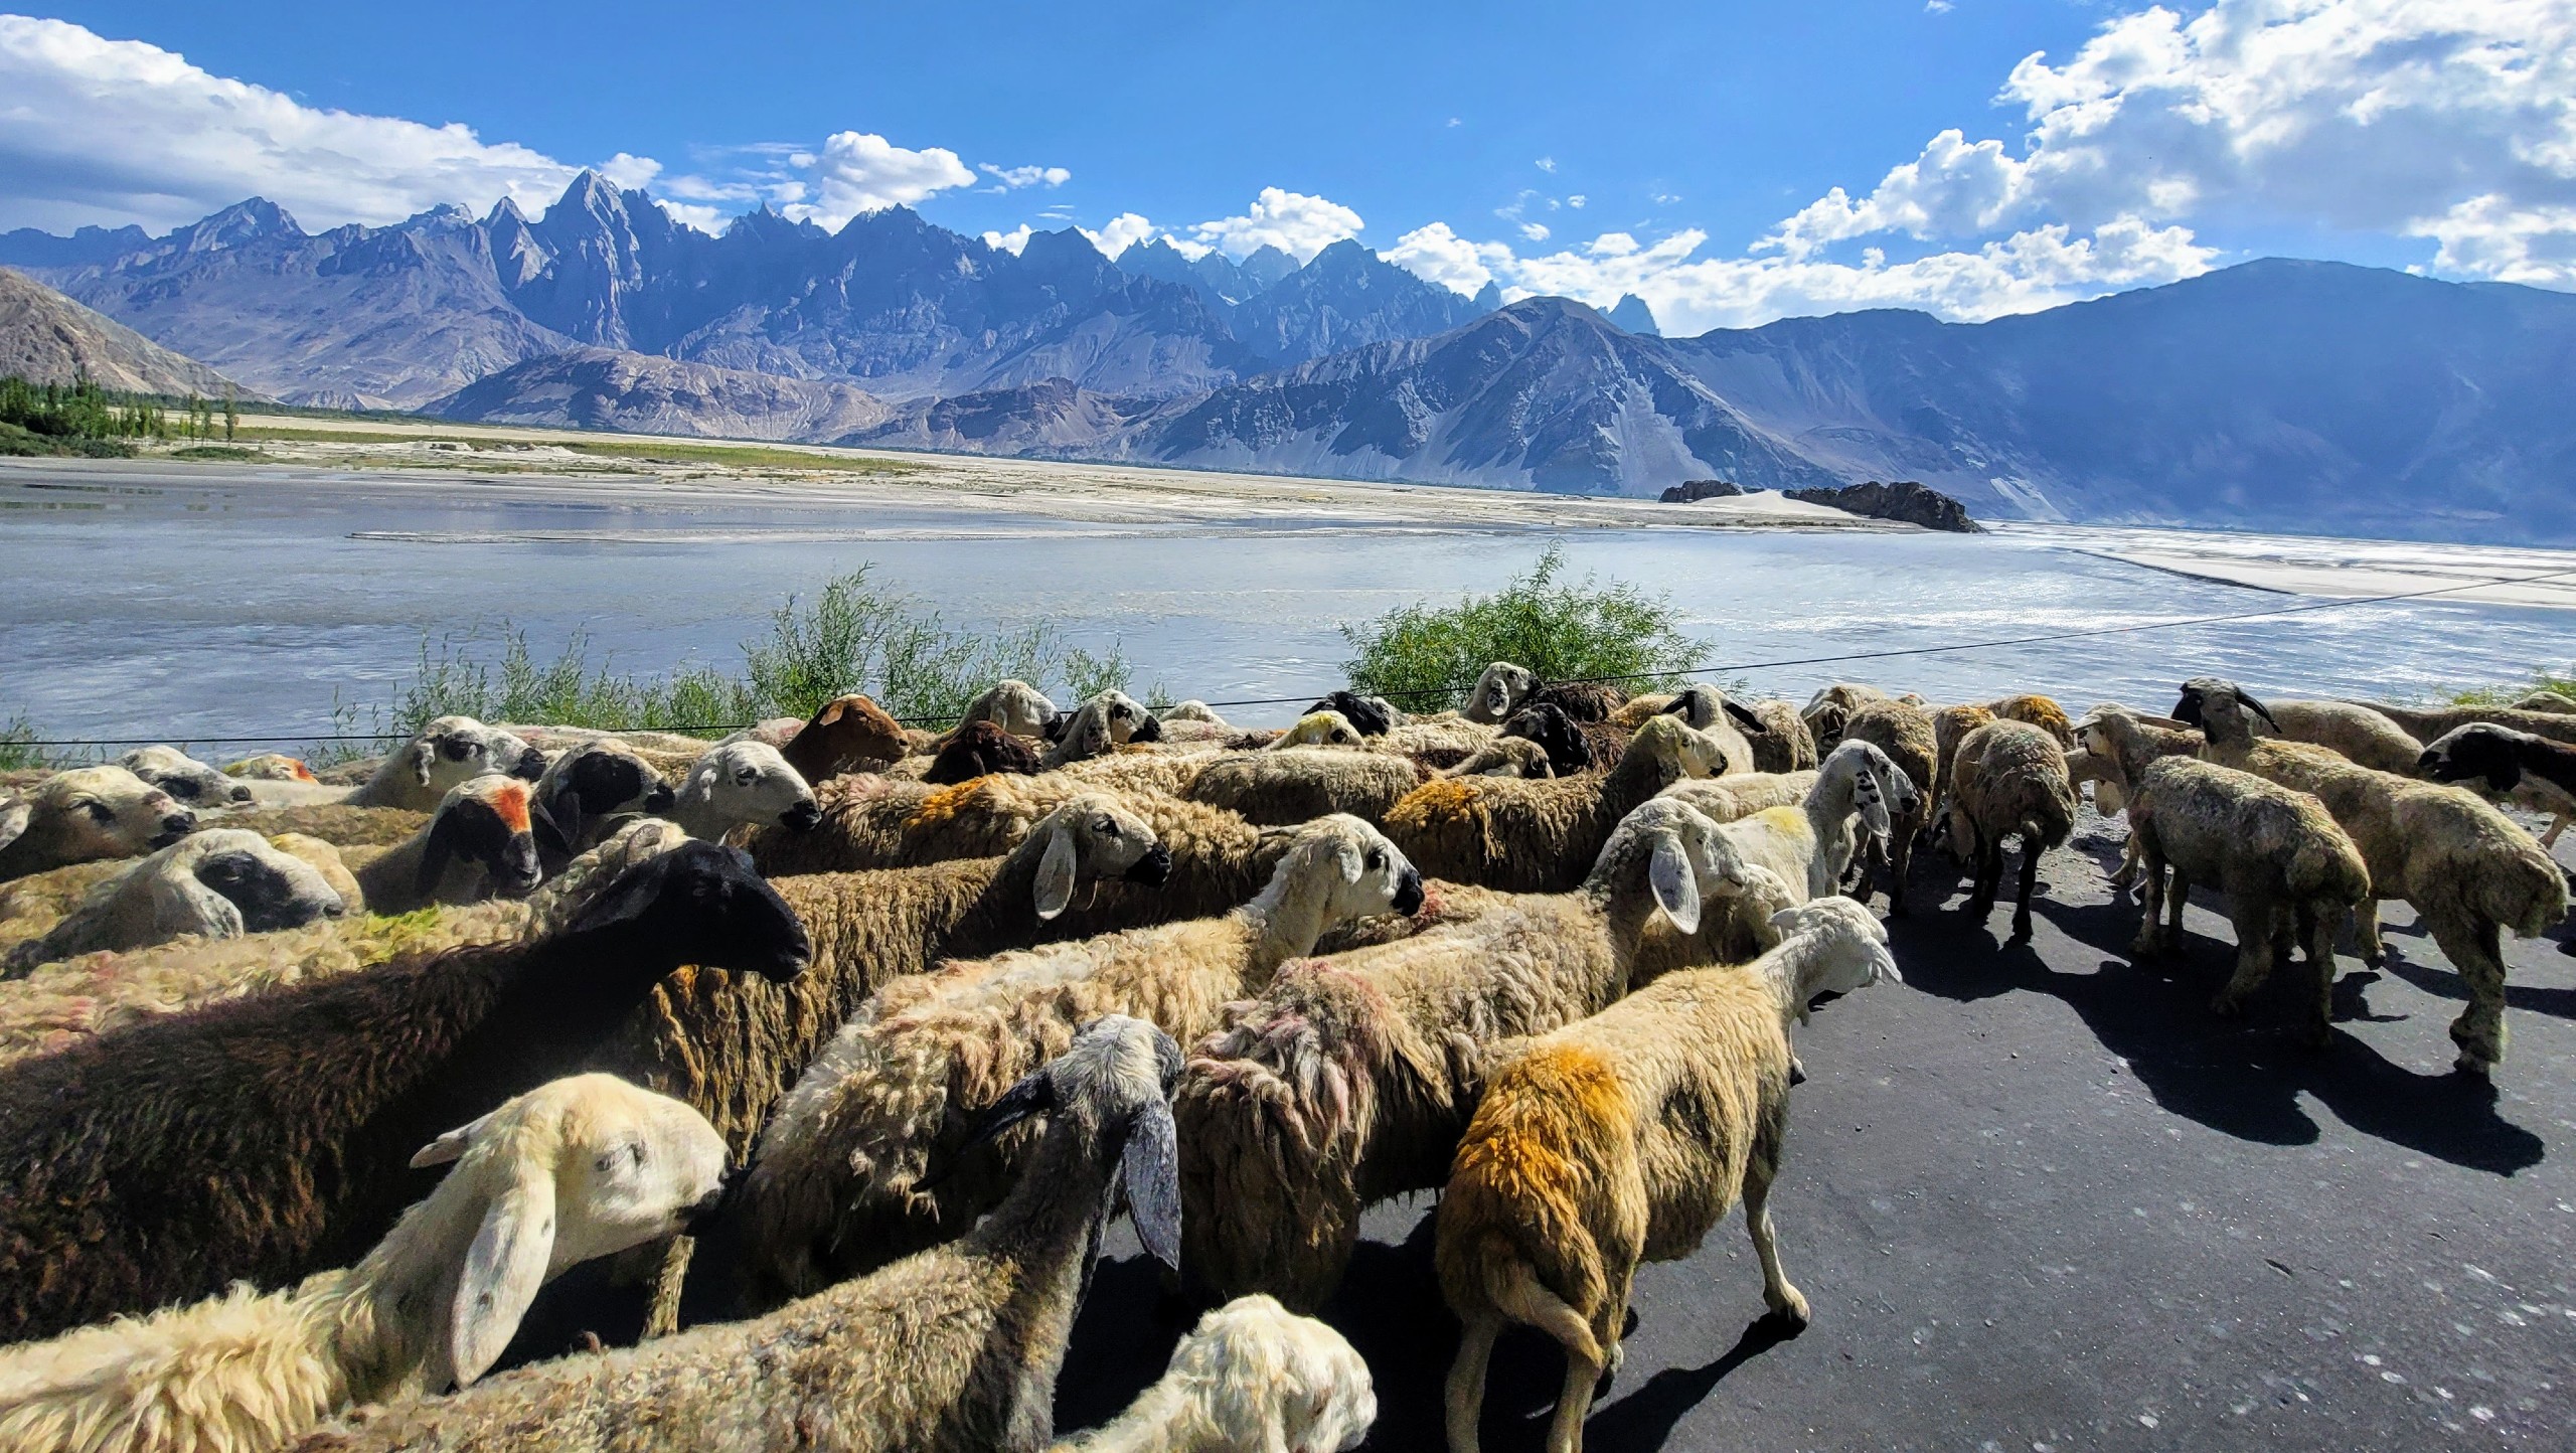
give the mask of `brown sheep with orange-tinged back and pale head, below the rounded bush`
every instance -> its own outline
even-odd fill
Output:
[[[1448,778],[1386,812],[1386,835],[1425,876],[1504,891],[1564,891],[1600,855],[1610,830],[1677,778],[1718,768],[1716,745],[1672,716],[1636,732],[1602,775],[1515,781]]]

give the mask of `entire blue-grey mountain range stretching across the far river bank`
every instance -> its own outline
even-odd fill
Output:
[[[1466,299],[1358,242],[1020,252],[907,209],[711,237],[585,173],[307,234],[10,232],[18,265],[294,402],[1548,492],[1919,479],[1984,518],[2576,541],[2576,296],[2342,263],[1953,325],[1659,337],[1643,301]]]

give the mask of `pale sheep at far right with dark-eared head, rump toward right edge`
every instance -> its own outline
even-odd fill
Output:
[[[2514,930],[2540,938],[2568,912],[2568,881],[2555,860],[2476,793],[2375,773],[2290,742],[2257,742],[2249,716],[2262,703],[2218,678],[2184,683],[2174,716],[2197,708],[2202,757],[2316,793],[2370,866],[2352,915],[2365,964],[2380,964],[2378,899],[2406,899],[2468,984],[2468,1007],[2450,1025],[2455,1069],[2486,1077],[2504,1061],[2504,948]],[[2130,812],[2136,822],[2136,812]]]

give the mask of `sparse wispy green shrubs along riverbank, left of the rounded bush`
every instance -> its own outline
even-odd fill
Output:
[[[492,644],[500,647],[497,662],[489,660]],[[876,585],[871,567],[860,567],[824,582],[814,598],[781,603],[770,634],[742,644],[739,672],[711,665],[667,675],[621,672],[613,660],[592,665],[582,634],[551,660],[538,660],[528,634],[502,621],[489,634],[422,641],[420,670],[397,690],[392,711],[376,719],[399,734],[448,714],[603,732],[714,729],[762,716],[811,716],[835,696],[863,690],[886,711],[935,726],[953,721],[1002,678],[1082,701],[1126,690],[1131,667],[1115,647],[1092,654],[1046,623],[1018,631],[951,626],[912,595]]]

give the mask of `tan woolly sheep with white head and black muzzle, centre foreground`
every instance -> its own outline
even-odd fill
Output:
[[[958,1141],[1015,1079],[1105,1012],[1180,1041],[1257,994],[1327,930],[1422,907],[1422,876],[1355,817],[1301,827],[1257,899],[1172,922],[951,961],[884,984],[832,1038],[760,1136],[744,1182],[750,1273],[804,1296],[940,1242],[1018,1180],[1025,1141],[966,1157]],[[938,1188],[933,1164],[945,1167]],[[757,1304],[757,1301],[755,1301]]]

